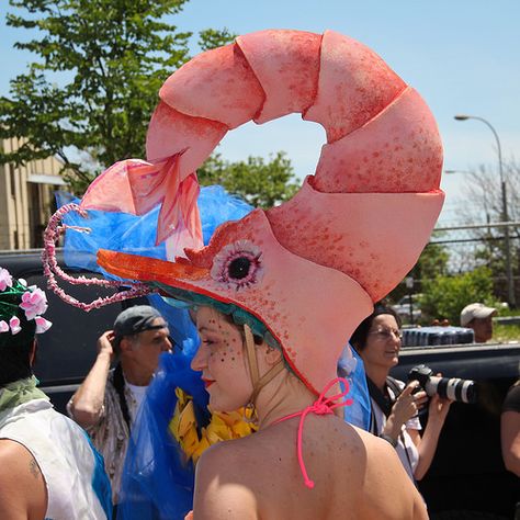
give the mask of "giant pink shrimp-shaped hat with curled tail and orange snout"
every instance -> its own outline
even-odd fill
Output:
[[[147,157],[94,181],[81,207],[142,214],[158,240],[196,238],[195,170],[224,135],[292,112],[320,123],[315,176],[281,206],[217,228],[176,262],[101,250],[108,271],[241,307],[316,394],[373,302],[411,269],[443,203],[442,147],[419,94],[364,45],[334,31],[261,31],[203,53],[165,82]]]

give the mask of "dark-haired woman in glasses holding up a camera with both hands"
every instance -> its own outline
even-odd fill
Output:
[[[376,304],[374,312],[355,329],[350,340],[366,371],[372,400],[370,431],[388,441],[411,479],[420,481],[431,465],[451,399],[434,394],[428,405],[422,436],[418,411],[428,404],[419,382],[407,385],[388,375],[398,363],[400,318],[389,307]]]

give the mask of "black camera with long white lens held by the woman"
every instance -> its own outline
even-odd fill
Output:
[[[459,403],[475,404],[477,402],[476,383],[474,381],[439,377],[432,374],[433,371],[429,366],[419,364],[410,370],[408,381],[418,381],[430,397],[439,394],[440,397],[457,400]]]

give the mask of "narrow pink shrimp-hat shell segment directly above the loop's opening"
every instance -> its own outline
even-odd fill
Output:
[[[321,36],[304,31],[260,31],[237,37],[263,91],[255,123],[304,112],[316,97]]]

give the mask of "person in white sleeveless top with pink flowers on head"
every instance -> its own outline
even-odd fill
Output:
[[[102,457],[36,387],[35,335],[52,325],[46,309],[42,290],[0,268],[0,518],[111,518]]]

